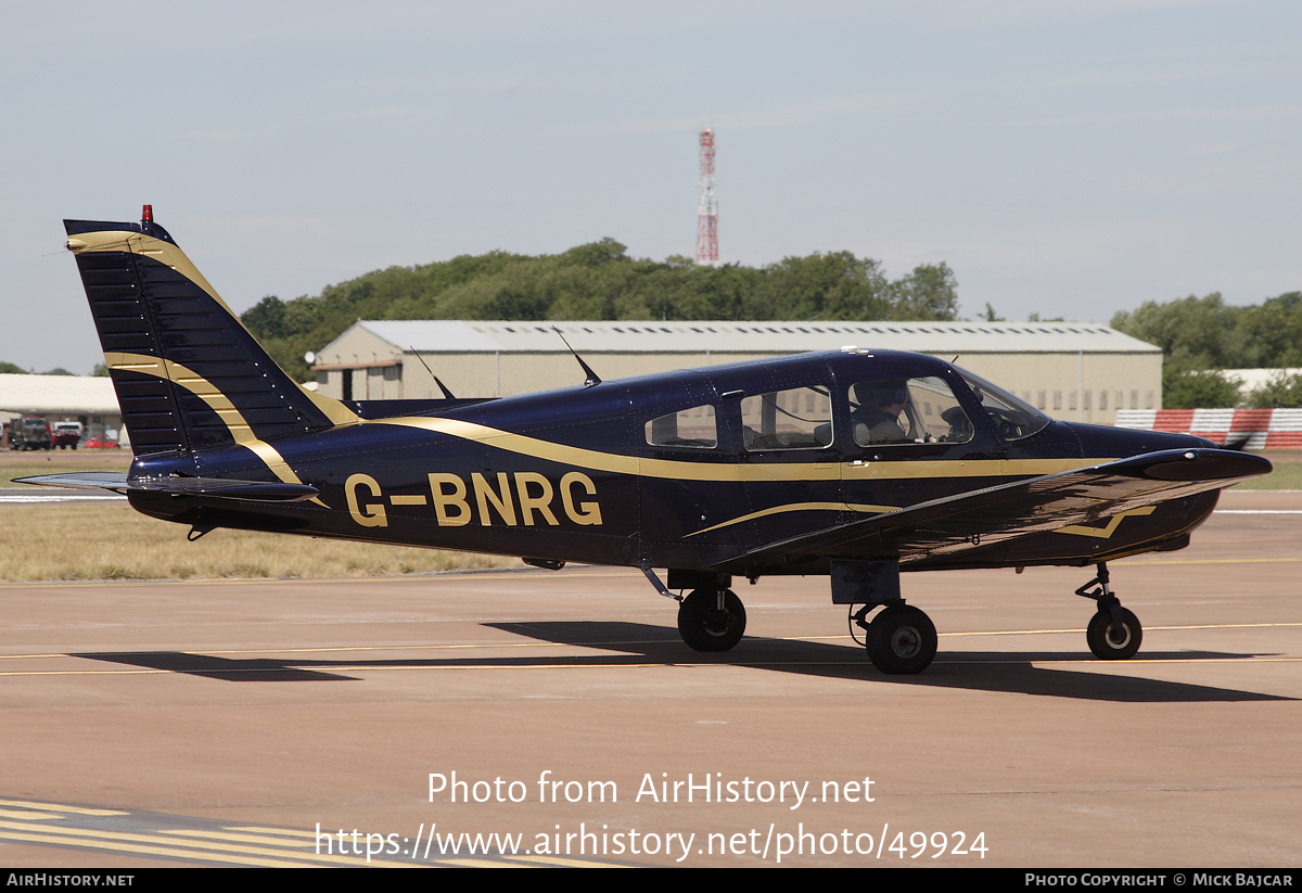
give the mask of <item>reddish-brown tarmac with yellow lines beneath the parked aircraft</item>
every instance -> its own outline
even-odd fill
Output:
[[[1220,508],[1129,661],[1088,569],[907,574],[915,677],[823,578],[725,655],[624,569],[4,586],[0,863],[1297,867],[1302,493]]]

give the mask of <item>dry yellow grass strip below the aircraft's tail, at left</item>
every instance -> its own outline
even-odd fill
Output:
[[[336,578],[513,568],[518,558],[215,530],[189,543],[184,525],[125,502],[0,508],[0,579]]]

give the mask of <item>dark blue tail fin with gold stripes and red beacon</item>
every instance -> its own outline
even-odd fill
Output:
[[[135,453],[249,444],[357,420],[293,381],[150,206],[141,223],[65,220]]]

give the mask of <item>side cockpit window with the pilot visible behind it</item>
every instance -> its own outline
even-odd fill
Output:
[[[973,426],[944,379],[883,379],[850,385],[854,443],[965,444]]]

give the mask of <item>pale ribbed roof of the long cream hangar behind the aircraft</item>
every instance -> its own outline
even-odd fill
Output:
[[[801,353],[845,345],[930,354],[1161,353],[1096,323],[359,320],[401,351]],[[346,333],[345,333],[346,335]],[[340,336],[342,338],[345,336]],[[331,346],[323,348],[328,354]],[[326,357],[322,357],[323,362]]]

